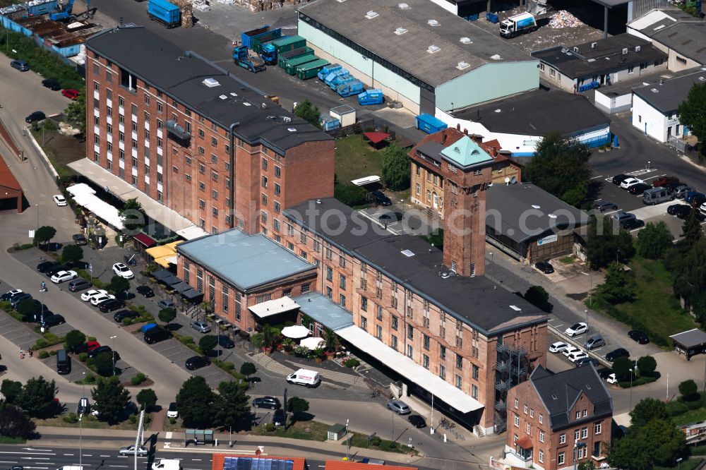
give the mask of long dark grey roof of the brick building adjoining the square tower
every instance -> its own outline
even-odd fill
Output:
[[[498,289],[486,277],[441,277],[448,271],[443,267],[443,253],[419,236],[382,234],[377,224],[332,198],[313,204],[287,209],[285,216],[478,330],[497,334],[505,328],[546,321],[539,308],[506,289]],[[371,232],[371,225],[379,233]]]

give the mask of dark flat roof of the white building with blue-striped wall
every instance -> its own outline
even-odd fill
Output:
[[[558,90],[534,90],[453,115],[481,123],[493,133],[520,135],[572,135],[610,124],[610,119],[586,97]]]

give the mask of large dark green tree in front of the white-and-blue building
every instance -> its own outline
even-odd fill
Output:
[[[570,205],[580,205],[588,196],[591,152],[586,145],[550,133],[537,144],[534,157],[522,171],[524,181],[532,181]]]

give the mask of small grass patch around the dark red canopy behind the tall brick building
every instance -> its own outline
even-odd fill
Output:
[[[350,184],[363,176],[381,176],[380,152],[373,149],[362,134],[336,141],[335,173],[338,181]]]

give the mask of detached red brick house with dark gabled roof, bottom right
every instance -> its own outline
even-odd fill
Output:
[[[508,392],[505,459],[536,469],[599,466],[611,442],[613,400],[593,366],[551,373],[538,366]]]

